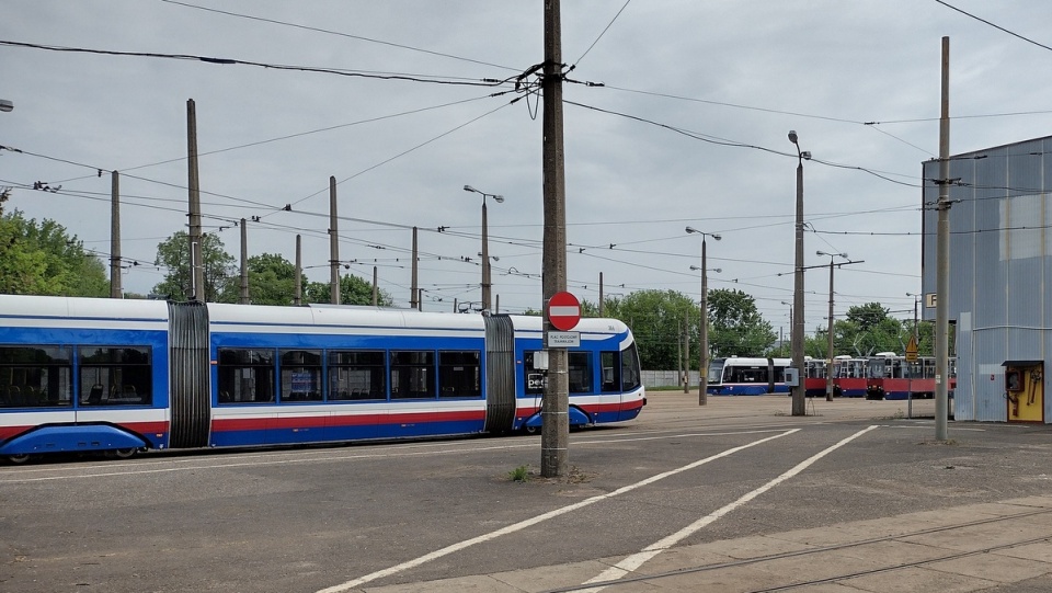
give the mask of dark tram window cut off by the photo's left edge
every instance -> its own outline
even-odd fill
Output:
[[[0,346],[0,408],[72,406],[71,349]]]

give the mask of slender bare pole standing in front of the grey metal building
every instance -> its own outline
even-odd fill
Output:
[[[939,221],[936,233],[935,438],[947,440],[950,308],[950,38],[942,37],[942,100],[939,116]]]

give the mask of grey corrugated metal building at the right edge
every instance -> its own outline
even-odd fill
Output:
[[[924,318],[935,320],[939,162],[924,163]],[[1052,136],[950,160],[958,420],[1052,421]]]

